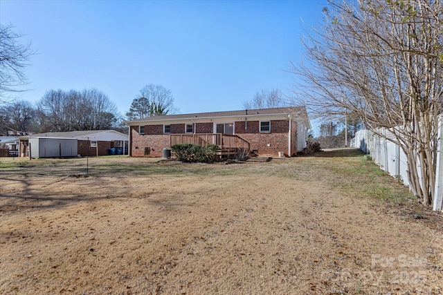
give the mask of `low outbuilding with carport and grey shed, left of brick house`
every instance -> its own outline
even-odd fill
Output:
[[[128,135],[114,130],[47,132],[19,139],[21,157],[30,158],[109,155],[115,148],[127,154],[128,144]]]

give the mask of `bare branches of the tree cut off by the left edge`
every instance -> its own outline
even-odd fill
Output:
[[[0,24],[0,102],[5,93],[19,91],[17,87],[27,83],[24,68],[34,54],[30,44],[21,44],[23,35],[12,30],[12,26]]]

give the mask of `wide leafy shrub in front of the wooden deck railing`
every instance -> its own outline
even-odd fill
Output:
[[[216,144],[201,146],[198,144],[174,144],[171,146],[172,152],[181,162],[208,163],[217,160]]]

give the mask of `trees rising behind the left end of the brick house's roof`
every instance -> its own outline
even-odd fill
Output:
[[[175,112],[177,108],[174,106],[172,92],[161,85],[149,84],[138,92],[126,116],[128,120],[136,120]]]

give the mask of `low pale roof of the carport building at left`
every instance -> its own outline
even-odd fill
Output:
[[[128,135],[115,130],[89,130],[89,131],[68,131],[68,132],[46,132],[33,135],[21,136],[20,139],[29,137],[48,137],[48,138],[75,138],[78,140],[86,140],[87,137],[95,140],[128,140]]]

